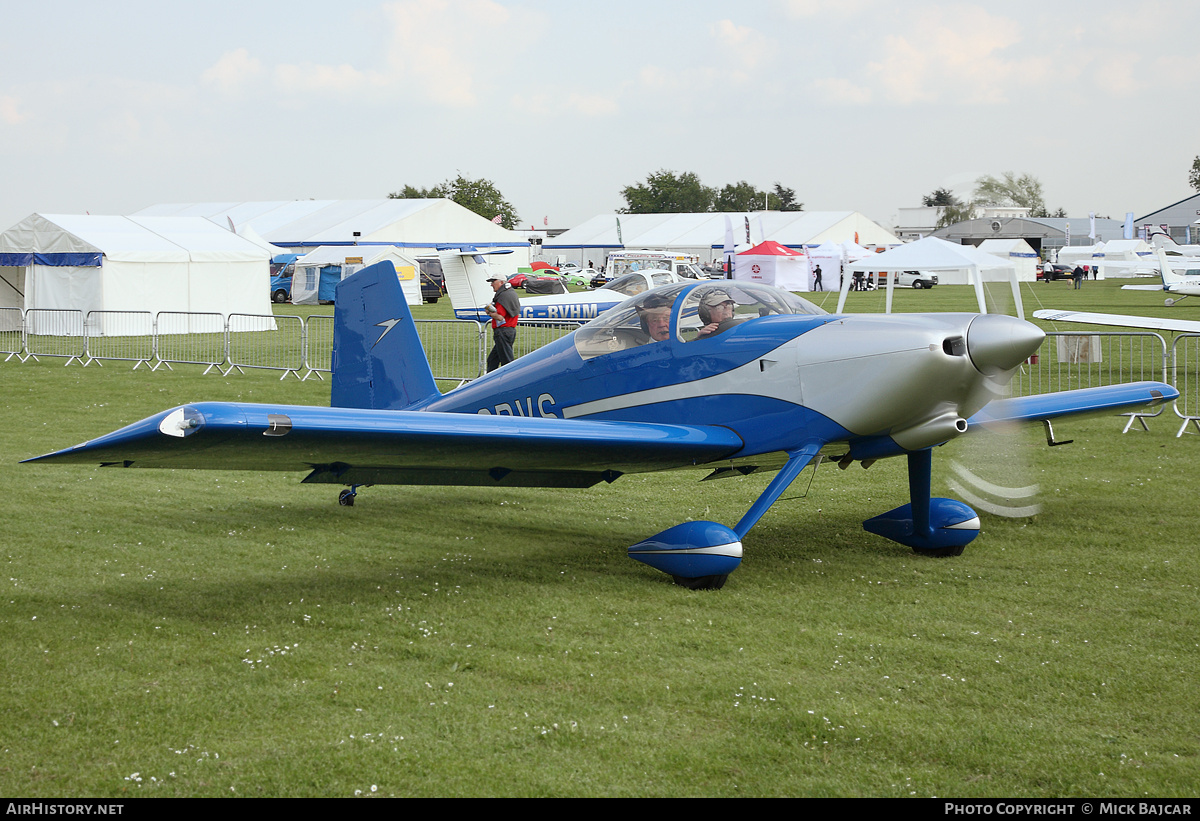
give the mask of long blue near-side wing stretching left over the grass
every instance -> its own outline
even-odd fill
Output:
[[[340,485],[590,487],[742,448],[718,426],[198,402],[25,461],[307,471],[306,483]]]

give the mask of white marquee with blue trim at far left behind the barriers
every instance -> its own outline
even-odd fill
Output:
[[[26,311],[271,314],[270,253],[203,218],[32,214],[0,234],[0,277]]]

